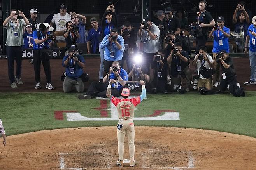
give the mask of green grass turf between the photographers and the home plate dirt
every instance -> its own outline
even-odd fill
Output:
[[[256,92],[246,92],[246,97],[200,95],[196,92],[147,94],[147,99],[137,106],[139,110],[135,111],[135,117],[153,114],[154,110],[175,110],[179,112],[180,120],[135,121],[135,124],[200,128],[256,137],[255,101]],[[107,103],[109,108],[110,101]],[[7,135],[117,124],[117,121],[60,121],[54,118],[54,111],[58,110],[74,110],[83,116],[99,118],[100,111],[93,109],[97,107],[100,107],[99,100],[79,100],[74,93],[0,93],[0,118]]]

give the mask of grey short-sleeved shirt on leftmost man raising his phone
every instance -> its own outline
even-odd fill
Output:
[[[13,23],[12,20],[10,19],[8,24],[4,26],[7,29],[7,37],[6,37],[5,45],[6,46],[24,45],[23,27],[25,26],[26,26],[26,23],[23,19],[17,19],[15,23]]]

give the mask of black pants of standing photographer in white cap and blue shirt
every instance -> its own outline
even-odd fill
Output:
[[[34,70],[35,70],[35,81],[37,83],[40,82],[40,74],[41,74],[41,62],[44,67],[44,73],[46,74],[46,82],[51,83],[51,67],[50,67],[50,60],[45,59],[45,57],[40,56],[39,50],[34,50],[33,53],[33,60],[34,60]]]

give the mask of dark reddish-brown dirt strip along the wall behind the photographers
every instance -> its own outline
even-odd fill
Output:
[[[98,81],[99,73],[99,64],[100,58],[85,58],[86,67],[84,71],[89,74],[89,82],[84,83],[85,89],[89,87],[89,84],[92,81]],[[60,59],[53,59],[51,62],[51,75],[52,75],[52,84],[55,90],[53,92],[63,92],[63,82],[60,80],[60,76],[65,71],[65,68],[62,67],[62,61]],[[12,89],[10,87],[10,82],[8,78],[8,69],[7,69],[7,59],[0,59],[1,63],[1,76],[0,76],[0,92],[49,92],[45,88],[46,86],[46,76],[44,74],[44,69],[41,67],[41,90],[35,90],[35,78],[34,78],[34,68],[33,65],[28,62],[27,59],[24,59],[22,62],[22,80],[23,85],[18,85],[17,89]],[[244,82],[249,81],[250,78],[250,65],[249,58],[234,58],[235,69],[237,71],[237,81],[240,82],[240,85],[245,87],[246,90],[256,90],[256,85],[247,85],[244,86]],[[124,67],[125,69],[126,67]],[[193,67],[191,66],[191,69]],[[192,86],[190,87],[193,88]],[[216,88],[217,90],[217,88]]]

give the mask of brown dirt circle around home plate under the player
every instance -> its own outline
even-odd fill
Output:
[[[127,140],[126,140],[127,141]],[[2,140],[1,140],[2,142]],[[98,170],[116,167],[116,127],[45,130],[7,137],[0,146],[1,170]],[[172,127],[135,126],[132,169],[255,169],[256,139]],[[125,143],[124,158],[128,158]]]

